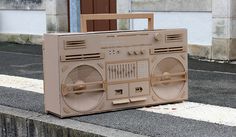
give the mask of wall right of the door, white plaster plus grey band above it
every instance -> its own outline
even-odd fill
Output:
[[[155,29],[187,28],[189,44],[212,44],[211,0],[132,0],[132,12],[154,12]],[[131,27],[144,29],[145,20],[134,20]]]

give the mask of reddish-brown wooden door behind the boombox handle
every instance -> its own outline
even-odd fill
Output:
[[[116,13],[116,0],[81,0],[81,14]],[[116,20],[88,21],[88,31],[117,29]]]

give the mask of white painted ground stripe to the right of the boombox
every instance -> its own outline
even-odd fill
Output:
[[[236,109],[228,107],[183,102],[139,110],[236,127]]]

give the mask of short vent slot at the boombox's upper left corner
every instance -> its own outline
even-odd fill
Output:
[[[65,49],[83,49],[86,48],[85,40],[65,41]]]

